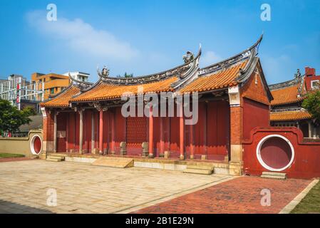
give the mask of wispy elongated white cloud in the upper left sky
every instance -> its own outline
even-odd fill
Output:
[[[68,48],[86,56],[130,60],[139,53],[130,43],[118,40],[108,31],[93,28],[81,19],[69,20],[58,16],[57,21],[47,21],[45,11],[31,11],[26,18],[38,33],[64,41]]]

